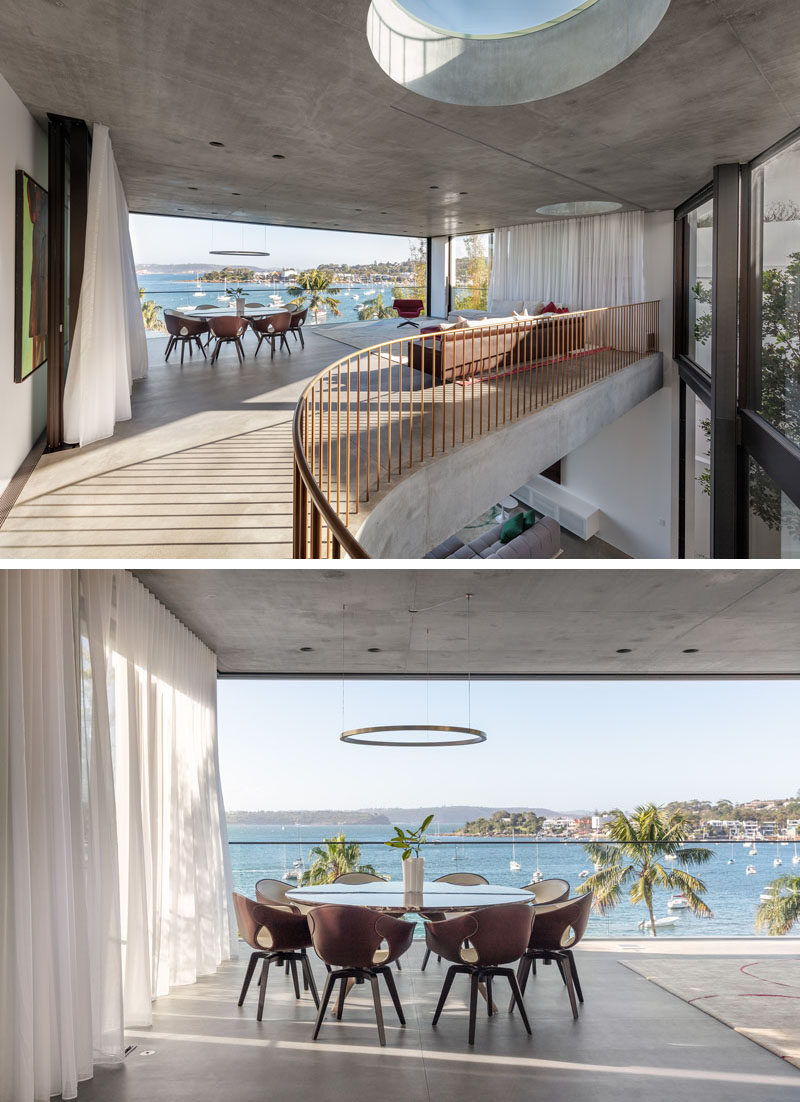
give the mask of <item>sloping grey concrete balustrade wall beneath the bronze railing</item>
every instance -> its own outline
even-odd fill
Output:
[[[426,462],[371,506],[361,544],[377,559],[419,559],[562,455],[661,390],[660,354],[521,421]],[[648,443],[649,446],[649,443]],[[591,500],[591,498],[590,498]]]

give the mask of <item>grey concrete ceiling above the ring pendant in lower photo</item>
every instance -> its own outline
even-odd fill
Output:
[[[800,677],[800,571],[136,573],[223,674]]]

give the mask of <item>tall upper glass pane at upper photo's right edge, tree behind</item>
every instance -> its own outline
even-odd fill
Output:
[[[800,142],[756,170],[753,209],[760,279],[753,404],[800,444]]]

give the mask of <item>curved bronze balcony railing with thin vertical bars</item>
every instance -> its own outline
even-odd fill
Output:
[[[655,353],[659,303],[414,333],[321,371],[294,412],[295,558],[368,558],[364,505],[445,452]]]

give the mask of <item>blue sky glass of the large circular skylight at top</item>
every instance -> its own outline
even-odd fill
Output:
[[[401,8],[443,34],[499,37],[523,34],[588,8],[597,0],[398,0]]]

